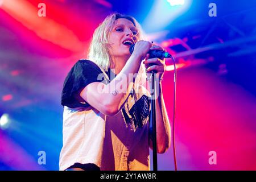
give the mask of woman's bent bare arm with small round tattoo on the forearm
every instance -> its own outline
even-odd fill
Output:
[[[146,57],[150,47],[149,42],[137,42],[133,54],[117,77],[107,85],[92,82],[81,90],[80,97],[101,113],[106,115],[118,113],[133,88],[134,82],[133,79],[129,79],[129,73],[138,73],[141,61]],[[118,88],[115,88],[117,85]]]

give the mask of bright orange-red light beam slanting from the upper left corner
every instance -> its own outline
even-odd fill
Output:
[[[3,1],[1,9],[23,26],[34,31],[39,38],[72,52],[83,50],[84,43],[70,28],[48,16],[44,18],[38,16],[38,7],[32,5],[30,1],[6,0]],[[59,11],[56,10],[56,14],[58,13]]]

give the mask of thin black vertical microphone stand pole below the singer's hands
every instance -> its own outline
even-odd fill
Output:
[[[158,171],[158,156],[156,150],[156,90],[155,90],[155,71],[151,71],[151,111],[150,123],[152,123],[152,147],[153,147],[153,171]]]

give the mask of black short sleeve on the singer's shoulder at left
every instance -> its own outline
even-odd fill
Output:
[[[85,59],[77,61],[65,78],[61,93],[61,105],[70,108],[89,106],[86,102],[79,102],[75,95],[79,94],[79,90],[92,82],[108,84],[108,79],[93,61]]]

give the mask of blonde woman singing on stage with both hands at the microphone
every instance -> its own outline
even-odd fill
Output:
[[[135,44],[133,53],[131,44]],[[77,61],[64,82],[60,170],[150,169],[151,93],[143,84],[151,85],[146,73],[153,70],[158,92],[157,151],[170,147],[162,94],[165,60],[150,59],[150,49],[162,48],[143,40],[131,16],[111,14],[96,28],[89,59]]]

